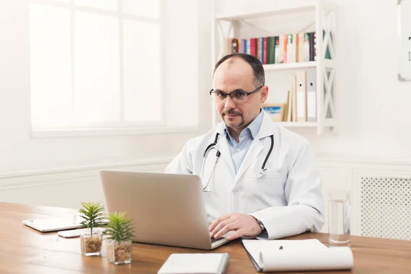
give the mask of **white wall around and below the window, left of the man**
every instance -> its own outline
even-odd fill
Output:
[[[194,95],[173,105],[182,103],[197,105],[204,101],[206,92],[202,92],[210,77],[210,21],[212,4],[208,1],[178,0],[179,5],[169,7],[169,39],[166,41],[165,60],[166,88],[175,91],[184,87],[186,90],[199,90]],[[176,1],[173,3],[177,4]],[[181,7],[191,12],[181,14]],[[197,10],[203,13],[198,16]],[[201,21],[202,20],[202,21]],[[202,25],[199,25],[201,23]],[[185,31],[182,31],[184,27]],[[201,36],[198,35],[199,31]],[[203,35],[206,34],[206,35]],[[170,37],[171,36],[171,37]],[[58,197],[62,193],[73,195],[64,189],[55,188],[55,184],[71,184],[75,188],[84,186],[84,193],[79,197],[88,197],[91,186],[96,186],[96,175],[100,168],[131,166],[145,167],[147,160],[155,169],[163,169],[167,162],[192,136],[206,132],[211,124],[210,107],[199,105],[198,129],[190,132],[164,132],[162,134],[140,134],[124,136],[84,136],[61,138],[32,138],[30,135],[30,90],[29,90],[29,0],[0,1],[0,201],[16,201],[58,206]],[[178,39],[178,40],[173,40]],[[199,52],[206,51],[203,58]],[[193,57],[194,56],[194,57]],[[198,73],[197,73],[198,72]],[[201,79],[197,75],[203,75]],[[201,85],[201,86],[200,86]],[[197,97],[197,98],[196,98]],[[184,97],[183,97],[184,98]],[[179,103],[179,104],[178,104]],[[180,107],[179,110],[182,108]],[[197,115],[197,113],[184,113]],[[164,160],[165,159],[165,160]],[[147,169],[150,169],[147,167]],[[88,171],[88,179],[70,178],[77,171]],[[55,184],[44,188],[42,178],[47,181],[49,173],[61,173]],[[67,176],[66,176],[67,175]],[[43,176],[43,177],[41,177]],[[84,173],[78,173],[82,177]],[[75,177],[75,176],[74,176]],[[49,182],[48,181],[48,182]],[[25,184],[36,182],[36,184]],[[21,183],[21,184],[20,184]],[[51,185],[51,184],[50,184]],[[17,192],[16,192],[17,191]],[[19,192],[20,191],[20,192]],[[100,191],[100,190],[99,190]],[[36,194],[41,193],[36,197]],[[9,195],[10,194],[10,195]],[[45,199],[53,197],[53,199]],[[79,199],[75,198],[75,201]],[[90,195],[90,197],[96,197]],[[97,197],[101,197],[101,192]],[[62,205],[66,206],[66,204]]]

